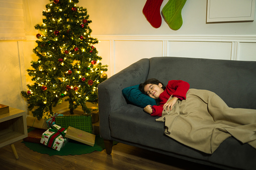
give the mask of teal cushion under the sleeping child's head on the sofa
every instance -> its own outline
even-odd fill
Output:
[[[156,105],[155,99],[143,94],[139,90],[139,85],[126,87],[122,90],[124,97],[132,104],[139,107],[146,107],[147,105]]]

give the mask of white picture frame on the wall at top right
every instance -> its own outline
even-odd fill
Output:
[[[255,0],[207,0],[206,23],[253,22]]]

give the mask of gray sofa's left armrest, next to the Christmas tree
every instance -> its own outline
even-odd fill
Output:
[[[148,71],[149,59],[141,59],[99,84],[100,134],[104,139],[111,139],[109,126],[111,112],[127,104],[122,90],[144,82]]]

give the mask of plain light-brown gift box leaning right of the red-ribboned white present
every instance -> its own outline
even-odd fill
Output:
[[[71,126],[68,126],[65,137],[90,146],[94,146],[95,143],[95,134],[88,133]]]

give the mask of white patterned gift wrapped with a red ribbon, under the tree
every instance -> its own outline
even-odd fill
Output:
[[[59,151],[68,141],[65,138],[66,131],[65,128],[54,124],[42,134],[40,143]]]

